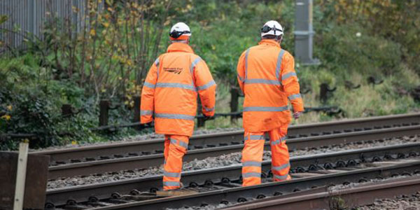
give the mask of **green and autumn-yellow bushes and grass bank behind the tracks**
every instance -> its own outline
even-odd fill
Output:
[[[111,125],[129,123],[134,115],[132,97],[140,94],[155,57],[165,52],[169,27],[179,21],[190,25],[193,48],[218,81],[218,113],[230,111],[237,59],[258,43],[265,21],[279,20],[285,28],[282,47],[292,53],[294,49],[293,0],[151,1],[147,5],[106,1],[102,13],[96,12],[94,2],[90,1],[85,14],[89,17],[85,32],[78,36],[69,35],[72,26],[50,17],[44,41],[28,36],[26,50],[11,49],[0,55],[0,133],[41,134],[33,147],[108,141],[136,133],[132,129],[111,135],[90,131],[98,125],[99,99],[120,104],[110,111]],[[335,117],[307,113],[298,123],[419,111],[420,103],[410,96],[420,85],[419,9],[419,1],[315,1],[314,57],[321,65],[296,64],[301,86],[311,90],[303,94],[305,106],[339,106],[344,113]],[[0,27],[4,21],[1,17]],[[369,76],[384,83],[369,85]],[[348,90],[346,81],[361,87]],[[321,83],[337,87],[325,103],[319,99]],[[63,118],[63,104],[80,113]],[[207,128],[232,126],[241,127],[241,120],[233,125],[228,118],[206,123]],[[1,149],[15,148],[15,141],[2,142]]]

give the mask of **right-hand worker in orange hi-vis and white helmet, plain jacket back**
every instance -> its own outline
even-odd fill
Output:
[[[261,41],[242,53],[237,66],[239,86],[244,92],[243,186],[261,183],[261,162],[265,133],[272,151],[274,181],[286,181],[290,169],[286,134],[290,123],[288,100],[293,117],[302,114],[303,102],[293,56],[281,49],[283,28],[274,20],[261,29]]]

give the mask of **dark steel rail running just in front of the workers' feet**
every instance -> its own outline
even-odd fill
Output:
[[[241,188],[228,188],[209,191],[206,193],[197,193],[193,195],[181,195],[176,197],[165,197],[155,200],[146,200],[141,202],[129,202],[126,204],[116,204],[109,207],[97,207],[95,210],[138,210],[138,209],[167,209],[186,207],[200,207],[203,204],[219,204],[221,202],[245,202],[251,198],[261,196],[272,196],[278,193],[290,193],[295,190],[304,190],[316,188],[318,186],[329,186],[342,183],[357,183],[363,179],[374,179],[377,176],[389,177],[394,174],[407,174],[409,172],[420,173],[420,160],[411,160],[399,162],[394,165],[382,167],[369,167],[366,169],[355,169],[347,172],[338,172],[334,174],[324,174],[311,176],[307,178],[293,179],[284,182],[262,183],[257,186],[248,186]],[[411,173],[409,173],[411,174]]]

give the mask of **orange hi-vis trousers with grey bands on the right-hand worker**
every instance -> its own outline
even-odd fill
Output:
[[[272,151],[273,181],[290,180],[288,147],[286,145],[287,125],[268,131]],[[242,151],[242,186],[261,183],[261,162],[264,152],[265,132],[245,132]]]

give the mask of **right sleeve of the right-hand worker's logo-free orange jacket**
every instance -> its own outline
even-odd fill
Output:
[[[287,97],[293,106],[293,111],[304,111],[299,82],[295,71],[295,59],[288,53],[286,53],[283,58],[281,85],[283,85],[283,90],[286,92]]]

